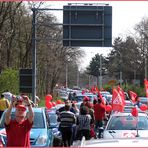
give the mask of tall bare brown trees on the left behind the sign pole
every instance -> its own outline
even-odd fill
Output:
[[[0,72],[7,68],[32,67],[31,8],[41,6],[42,2],[0,3]],[[56,17],[49,11],[37,12],[36,67],[39,97],[52,93],[66,63],[78,63],[83,55],[79,48],[63,47],[62,27],[54,25],[56,21]]]

